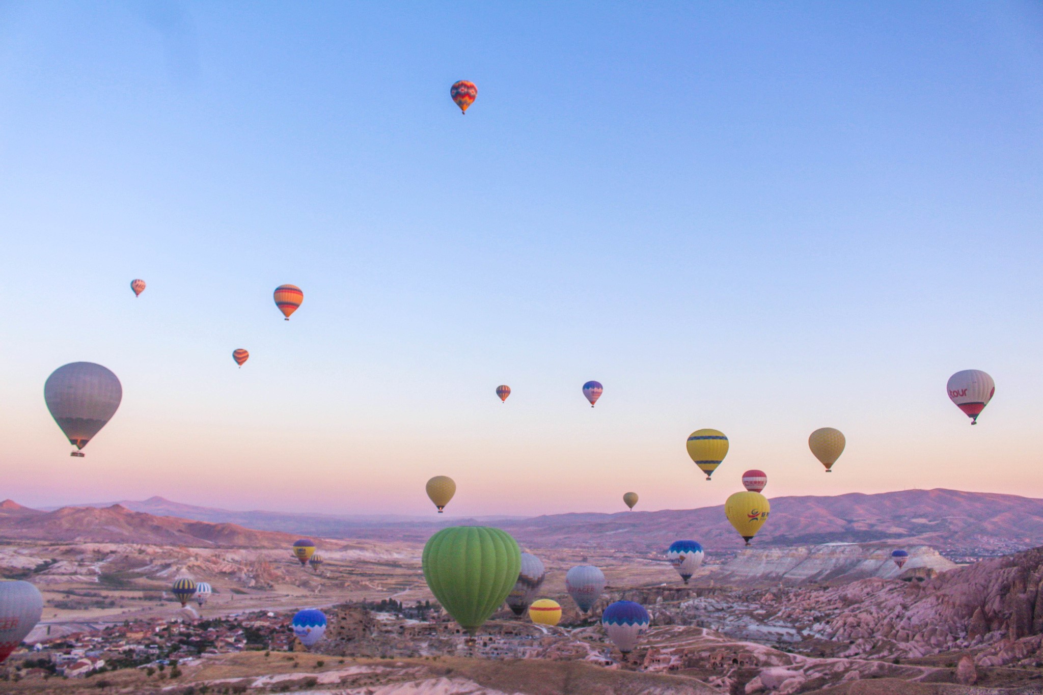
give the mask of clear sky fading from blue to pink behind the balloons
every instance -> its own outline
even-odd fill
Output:
[[[455,7],[0,5],[0,499],[1043,496],[1043,5]],[[77,361],[124,391],[84,458]]]

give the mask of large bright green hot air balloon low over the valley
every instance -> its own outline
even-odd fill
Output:
[[[428,539],[421,564],[431,593],[474,635],[517,581],[522,551],[499,528],[451,526]]]

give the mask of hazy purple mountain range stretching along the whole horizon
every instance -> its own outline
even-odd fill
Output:
[[[754,540],[758,546],[901,540],[930,545],[950,555],[981,556],[1043,545],[1043,500],[1016,495],[938,489],[875,495],[776,497],[771,502],[771,518]],[[8,500],[0,504],[0,537],[43,540],[49,532],[45,529],[53,527],[60,538],[52,540],[74,540],[70,535],[75,531],[76,539],[84,541],[110,540],[114,535],[129,539],[139,532],[140,540],[136,542],[165,544],[169,542],[163,539],[171,538],[171,533],[219,545],[251,545],[253,537],[249,533],[257,533],[256,542],[262,547],[281,543],[275,539],[287,539],[289,535],[422,543],[443,526],[482,523],[500,526],[523,545],[534,548],[599,548],[644,553],[659,551],[681,538],[690,538],[718,549],[736,549],[743,545],[725,519],[723,505],[659,512],[460,519],[436,515],[422,518],[235,512],[151,497],[119,503],[122,512],[114,513],[120,520],[117,526],[122,530],[119,533],[112,530],[113,526],[102,516],[68,511],[91,507],[114,508],[108,503],[45,513]],[[141,516],[132,517],[135,521],[131,521],[129,515],[132,513]],[[46,515],[49,520],[76,517],[77,525],[51,526],[40,515]],[[171,517],[180,519],[181,525],[168,527],[168,522],[162,521]],[[187,520],[224,525],[228,530],[190,528],[185,525],[190,523]],[[156,530],[156,524],[165,530]],[[138,530],[137,526],[140,526]],[[30,529],[37,529],[32,532],[40,535],[26,536]],[[270,536],[271,532],[278,532],[278,536]],[[105,538],[97,538],[99,536]]]

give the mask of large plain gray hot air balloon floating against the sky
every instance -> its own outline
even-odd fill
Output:
[[[47,377],[44,400],[58,427],[79,451],[116,414],[123,387],[111,371],[92,362],[74,362],[58,367]]]

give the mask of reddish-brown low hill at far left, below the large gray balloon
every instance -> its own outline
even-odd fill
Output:
[[[70,543],[146,543],[190,547],[285,548],[297,536],[259,531],[236,524],[214,524],[156,517],[114,504],[104,508],[66,506],[0,514],[0,538]]]

